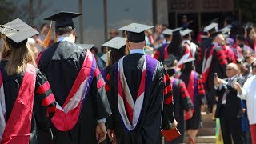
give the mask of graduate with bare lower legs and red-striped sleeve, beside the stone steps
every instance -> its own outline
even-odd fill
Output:
[[[185,65],[182,67],[182,74],[179,77],[186,84],[186,89],[194,105],[193,117],[188,117],[189,114],[185,115],[190,144],[195,143],[198,129],[202,128],[201,106],[206,106],[206,92],[200,75],[194,71],[194,60],[194,58],[189,58],[184,62]]]

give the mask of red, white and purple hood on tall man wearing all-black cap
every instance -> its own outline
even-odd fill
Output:
[[[53,118],[51,118],[51,122],[58,130],[71,130],[78,122],[82,102],[89,93],[95,70],[98,70],[98,68],[96,68],[94,56],[87,50],[82,68],[74,81],[66,101],[63,106],[57,104],[55,114]]]

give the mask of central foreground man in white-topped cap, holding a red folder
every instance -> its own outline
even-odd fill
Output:
[[[162,142],[161,129],[177,125],[170,79],[162,63],[144,54],[144,30],[152,26],[132,23],[119,30],[127,34],[130,54],[111,68],[108,134],[118,144]]]

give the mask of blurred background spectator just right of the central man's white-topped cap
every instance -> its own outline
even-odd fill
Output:
[[[154,27],[154,50],[158,50],[165,43],[165,38],[162,34],[162,25],[158,24]]]

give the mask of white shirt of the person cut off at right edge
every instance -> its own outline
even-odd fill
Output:
[[[256,77],[248,78],[242,87],[242,94],[238,97],[246,100],[247,115],[250,125],[256,124]]]

